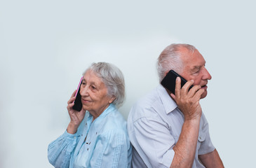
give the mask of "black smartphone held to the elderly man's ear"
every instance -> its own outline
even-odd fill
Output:
[[[187,80],[184,79],[182,76],[180,76],[178,73],[176,73],[173,70],[170,70],[166,76],[163,78],[163,80],[161,81],[161,85],[163,85],[163,87],[166,87],[166,89],[170,90],[170,92],[172,92],[173,94],[175,94],[175,85],[176,85],[176,78],[177,76],[180,77],[181,79],[181,87],[183,85],[185,85],[185,83],[187,83]],[[193,87],[194,85],[191,85],[189,87],[189,90]]]

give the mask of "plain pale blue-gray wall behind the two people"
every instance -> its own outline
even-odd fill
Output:
[[[253,1],[0,0],[0,167],[51,167],[67,100],[92,62],[116,64],[130,107],[158,85],[156,59],[189,43],[213,76],[201,106],[225,167],[255,165]]]

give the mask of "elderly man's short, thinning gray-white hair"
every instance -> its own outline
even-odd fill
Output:
[[[168,45],[159,55],[159,58],[156,62],[156,69],[159,75],[159,82],[163,80],[165,73],[173,69],[177,73],[182,73],[183,69],[183,62],[181,59],[180,52],[181,48],[187,48],[191,52],[194,52],[196,48],[193,45],[189,44],[181,44],[181,43],[174,43]]]

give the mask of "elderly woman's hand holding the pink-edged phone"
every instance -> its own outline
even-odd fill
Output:
[[[69,125],[67,126],[67,132],[69,134],[76,133],[77,128],[79,127],[84,116],[86,115],[86,111],[83,110],[83,108],[81,109],[81,111],[75,111],[74,109],[72,109],[72,107],[74,106],[74,100],[76,99],[75,94],[76,94],[76,90],[73,92],[72,96],[67,102],[67,111],[69,112],[69,116],[70,116],[70,122],[69,122]]]

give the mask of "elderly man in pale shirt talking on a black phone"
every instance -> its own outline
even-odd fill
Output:
[[[224,167],[210,141],[208,122],[199,100],[207,95],[212,77],[206,61],[192,45],[169,45],[159,56],[159,81],[173,69],[188,82],[175,93],[162,85],[130,110],[128,133],[133,144],[133,168]],[[194,85],[189,90],[189,87]]]

